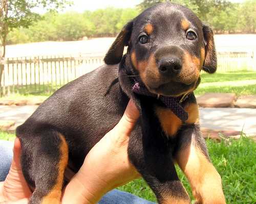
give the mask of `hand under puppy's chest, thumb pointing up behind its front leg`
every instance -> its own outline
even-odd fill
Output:
[[[96,203],[106,192],[140,176],[127,155],[138,118],[139,111],[130,100],[118,124],[87,155],[66,187],[62,203]]]

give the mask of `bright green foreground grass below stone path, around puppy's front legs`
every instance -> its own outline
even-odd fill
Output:
[[[0,139],[13,140],[14,135],[0,132]],[[206,141],[212,163],[222,176],[224,194],[228,204],[256,203],[256,143],[249,138],[229,139],[220,143]],[[188,190],[188,182],[177,167],[179,177]],[[156,201],[151,189],[142,180],[135,180],[119,187],[142,198]]]

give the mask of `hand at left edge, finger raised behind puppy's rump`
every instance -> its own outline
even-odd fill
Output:
[[[20,167],[21,144],[18,138],[14,141],[13,160],[4,182],[0,183],[0,203],[28,203],[32,195]]]

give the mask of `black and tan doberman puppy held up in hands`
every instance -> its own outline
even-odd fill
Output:
[[[57,90],[17,128],[23,173],[34,189],[29,203],[60,203],[65,169],[79,170],[130,98],[140,118],[130,136],[129,159],[158,202],[190,203],[177,162],[196,203],[225,203],[193,94],[200,71],[216,71],[211,29],[183,6],[158,4],[124,26],[104,61]]]

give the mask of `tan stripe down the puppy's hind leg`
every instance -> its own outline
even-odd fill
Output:
[[[61,190],[62,190],[63,179],[64,179],[64,171],[68,165],[68,160],[69,160],[69,148],[68,148],[66,139],[61,134],[59,134],[59,136],[61,139],[61,144],[59,146],[60,159],[58,164],[57,181],[54,187],[51,189],[50,193],[48,193],[48,195],[42,198],[41,204],[60,203]]]

